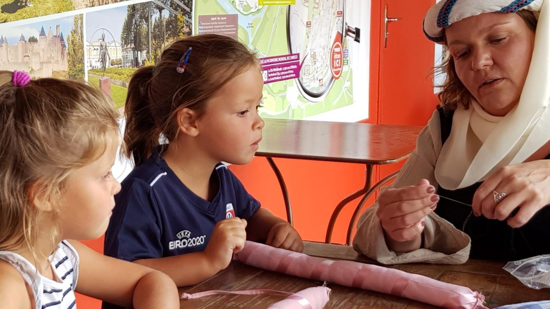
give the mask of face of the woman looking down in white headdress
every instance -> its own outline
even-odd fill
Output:
[[[518,14],[485,13],[445,29],[456,75],[486,112],[507,114],[519,102],[535,43]]]

